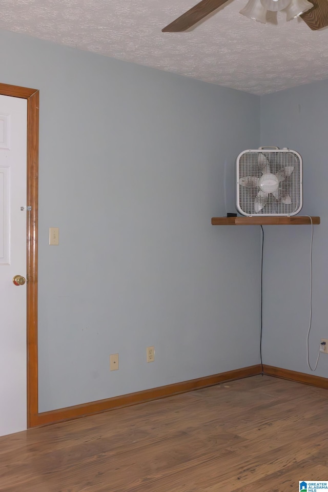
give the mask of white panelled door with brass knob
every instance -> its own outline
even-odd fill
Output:
[[[27,100],[0,95],[0,436],[27,427]]]

